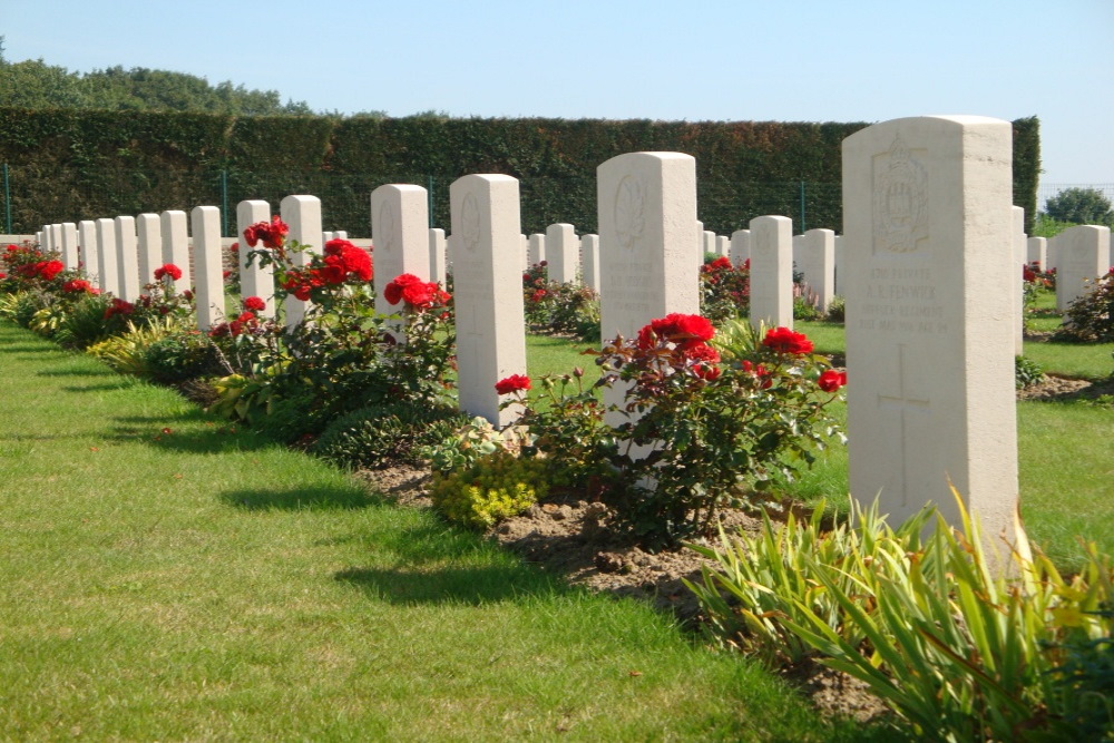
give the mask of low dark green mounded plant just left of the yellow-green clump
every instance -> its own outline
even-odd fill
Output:
[[[424,447],[451,437],[467,420],[455,408],[384,402],[331,421],[310,450],[351,468],[416,465]]]

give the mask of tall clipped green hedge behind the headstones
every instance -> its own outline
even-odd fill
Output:
[[[322,199],[326,229],[367,235],[368,197],[384,183],[429,188],[432,221],[447,228],[449,184],[502,173],[520,180],[524,232],[568,222],[586,233],[596,229],[596,167],[639,150],[696,158],[707,229],[730,234],[763,214],[790,216],[798,231],[840,229],[840,143],[864,126],[0,108],[0,162],[9,165],[14,232],[198,204],[233,209],[245,198],[277,208],[282,197],[309,193]],[[1027,226],[1039,168],[1039,123],[1018,119],[1014,203]]]

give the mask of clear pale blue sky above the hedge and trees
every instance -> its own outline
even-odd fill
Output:
[[[121,65],[317,110],[1042,123],[1042,192],[1114,184],[1114,0],[2,0],[9,61]]]

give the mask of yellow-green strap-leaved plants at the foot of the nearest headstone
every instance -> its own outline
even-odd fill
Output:
[[[893,531],[867,518],[850,540],[846,532],[810,536],[809,544],[846,542],[851,555],[811,547],[814,557],[792,563],[797,575],[769,585],[775,599],[749,585],[747,576],[788,569],[784,557],[740,537],[719,557],[731,569],[705,578],[702,594],[717,613],[724,610],[711,595],[717,588],[741,602],[759,598],[742,605],[755,617],[764,606],[785,607],[770,617],[781,625],[775,632],[791,632],[822,663],[867,683],[918,740],[1071,736],[1066,713],[1075,701],[1057,669],[1064,668],[1064,644],[1110,636],[1114,622],[1097,613],[1112,598],[1110,559],[1091,546],[1081,573],[1067,579],[1042,554],[1027,556],[1024,535],[1018,551],[988,555],[978,525],[959,506],[959,530],[939,519],[924,542],[924,515],[912,529]],[[879,540],[887,546],[856,550],[856,542]],[[740,560],[750,567],[740,571]],[[1016,578],[1000,575],[1006,565]]]

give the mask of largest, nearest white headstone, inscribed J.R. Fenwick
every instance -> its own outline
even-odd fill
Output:
[[[949,482],[988,540],[1017,524],[1012,127],[905,118],[843,140],[851,495],[893,524]]]

